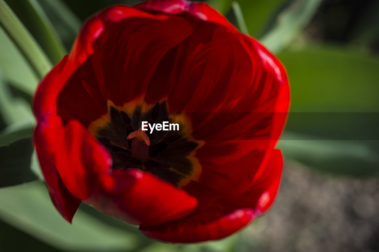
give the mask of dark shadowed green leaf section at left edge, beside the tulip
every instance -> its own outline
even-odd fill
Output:
[[[24,138],[0,146],[0,187],[23,184],[36,180],[30,170],[30,158],[33,152],[31,138]]]

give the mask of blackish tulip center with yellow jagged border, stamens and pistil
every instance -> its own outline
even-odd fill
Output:
[[[191,137],[189,120],[182,115],[169,115],[165,101],[144,112],[142,106],[124,109],[108,105],[108,114],[92,122],[89,130],[110,151],[113,169],[139,168],[177,187],[197,180],[201,167],[194,153],[201,142]],[[142,130],[142,121],[179,123],[179,131],[150,133]]]

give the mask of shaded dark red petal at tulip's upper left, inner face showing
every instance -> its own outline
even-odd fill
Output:
[[[122,106],[145,95],[163,56],[192,31],[179,17],[115,8],[99,14],[108,20],[102,34],[58,96],[58,114],[65,120],[74,118],[88,126],[106,114],[108,100]],[[127,18],[120,20],[118,12]]]

